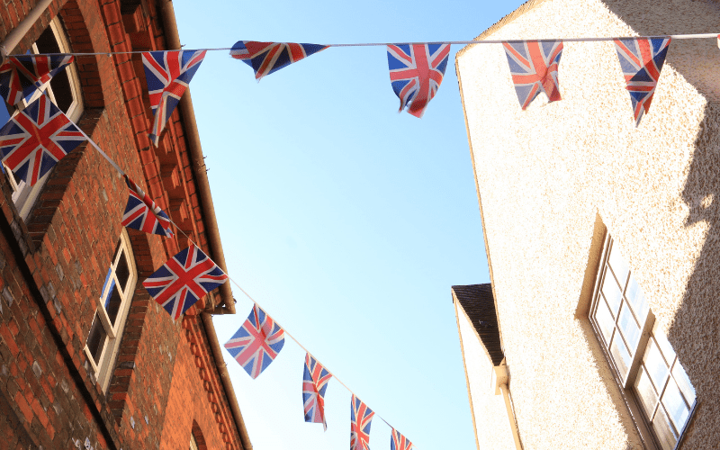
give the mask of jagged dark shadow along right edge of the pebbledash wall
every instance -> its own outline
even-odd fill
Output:
[[[608,0],[608,9],[641,35],[717,32],[720,2]],[[708,101],[682,192],[686,226],[709,231],[669,336],[696,388],[699,406],[685,442],[717,442],[720,434],[720,49],[715,39],[673,40],[666,64]]]

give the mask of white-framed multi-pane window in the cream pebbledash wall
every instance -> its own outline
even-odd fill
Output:
[[[592,308],[592,323],[617,381],[640,411],[657,448],[672,450],[695,406],[695,389],[620,248],[608,236]],[[651,431],[652,430],[652,431]]]

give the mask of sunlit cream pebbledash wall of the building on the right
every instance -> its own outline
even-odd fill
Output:
[[[719,31],[718,23],[720,4],[707,0],[537,0],[479,40],[707,33]],[[606,231],[622,247],[696,389],[698,408],[681,448],[715,447],[716,40],[672,41],[650,112],[637,129],[612,42],[566,42],[559,71],[563,100],[547,103],[541,94],[525,112],[500,45],[462,49],[456,71],[524,448],[653,448],[641,440],[588,320],[602,247],[597,242]],[[472,335],[464,319],[460,314],[463,337]],[[468,352],[478,352],[473,348],[464,348],[466,366]],[[479,448],[512,448],[507,415],[491,391],[490,366],[467,367],[482,383],[471,386]],[[504,423],[496,424],[494,415]]]

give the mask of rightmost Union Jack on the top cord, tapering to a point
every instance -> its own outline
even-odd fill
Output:
[[[670,41],[671,38],[615,40],[617,58],[633,103],[635,127],[640,125],[640,120],[653,102]]]

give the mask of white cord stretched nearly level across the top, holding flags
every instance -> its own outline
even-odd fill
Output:
[[[527,41],[537,41],[537,42],[555,42],[558,40],[561,40],[563,42],[597,42],[597,41],[608,41],[608,40],[622,40],[622,39],[709,39],[709,38],[717,38],[718,33],[700,33],[700,34],[664,34],[659,36],[616,36],[616,37],[606,37],[606,38],[565,38],[565,39],[510,39],[510,40],[438,40],[438,41],[426,41],[426,42],[367,42],[367,43],[351,43],[351,44],[323,44],[326,47],[384,47],[388,45],[416,45],[416,44],[453,44],[453,45],[474,45],[474,44],[502,44],[502,43],[519,43],[519,42],[527,42]],[[193,51],[229,51],[231,50],[231,47],[219,47],[214,49],[193,49]],[[148,51],[152,50],[133,50],[133,51],[103,51],[103,52],[94,52],[94,53],[82,53],[82,52],[73,52],[73,53],[39,53],[39,55],[43,56],[97,56],[97,55],[132,55],[132,54],[141,54],[141,53],[148,53]],[[168,50],[157,50],[157,51],[168,51]],[[173,50],[169,50],[173,51]],[[9,55],[9,57],[21,57],[26,55]]]

